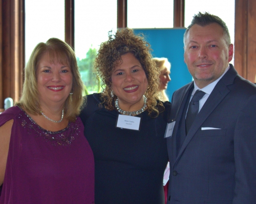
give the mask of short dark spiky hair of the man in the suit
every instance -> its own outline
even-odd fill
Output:
[[[199,12],[198,14],[194,15],[193,20],[191,21],[191,24],[188,25],[187,30],[184,33],[184,37],[183,37],[184,45],[185,45],[187,33],[188,33],[189,29],[194,24],[198,24],[198,25],[204,27],[205,25],[209,25],[211,23],[218,23],[221,26],[221,28],[223,29],[223,32],[224,32],[225,41],[226,41],[227,45],[229,46],[231,44],[231,40],[230,40],[230,35],[229,35],[229,31],[228,31],[226,23],[220,17],[211,15],[207,12],[204,12],[204,13]]]

